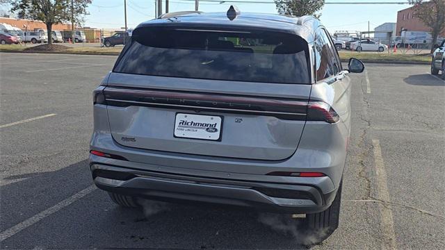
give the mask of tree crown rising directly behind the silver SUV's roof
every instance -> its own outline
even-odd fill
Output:
[[[325,5],[325,0],[274,0],[278,13],[281,15],[293,15],[301,17],[304,15],[314,15],[320,17],[315,12],[321,10]]]

